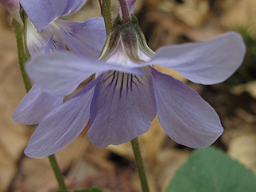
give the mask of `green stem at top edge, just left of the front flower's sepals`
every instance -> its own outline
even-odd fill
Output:
[[[110,33],[112,23],[112,15],[111,15],[111,0],[99,0],[101,13],[105,21],[105,28],[107,34]]]

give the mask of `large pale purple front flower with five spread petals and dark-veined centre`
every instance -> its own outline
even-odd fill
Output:
[[[135,19],[116,25],[99,60],[57,52],[26,65],[47,93],[65,96],[90,75],[95,79],[48,113],[31,136],[26,156],[41,158],[64,148],[82,132],[99,148],[122,144],[146,132],[158,114],[165,132],[190,148],[212,144],[223,132],[215,110],[195,90],[162,74],[153,64],[171,67],[195,83],[221,83],[242,63],[245,45],[238,33],[157,50],[145,44]]]

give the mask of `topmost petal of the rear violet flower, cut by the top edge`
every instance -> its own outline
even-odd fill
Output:
[[[38,32],[42,33],[57,18],[76,13],[87,0],[20,0],[20,2]]]

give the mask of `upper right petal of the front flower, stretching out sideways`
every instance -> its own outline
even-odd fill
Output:
[[[246,52],[239,33],[230,32],[199,43],[165,46],[145,64],[173,68],[194,83],[221,83],[241,65]]]

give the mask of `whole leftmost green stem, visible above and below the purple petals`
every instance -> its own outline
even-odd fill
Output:
[[[32,85],[31,85],[29,76],[25,72],[25,62],[29,60],[29,51],[28,51],[28,48],[26,47],[26,44],[25,46],[23,44],[21,25],[15,19],[14,19],[14,33],[17,41],[17,55],[18,55],[18,60],[21,68],[22,79],[25,84],[25,90],[29,92]],[[24,51],[24,47],[25,47],[25,51]],[[67,188],[65,186],[63,176],[61,175],[61,172],[60,172],[60,167],[56,162],[56,158],[54,154],[52,154],[51,156],[48,156],[48,159],[51,163],[52,170],[56,176],[56,180],[59,183],[60,190],[66,190]]]

